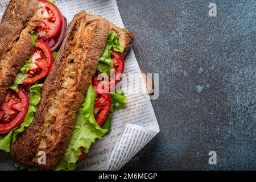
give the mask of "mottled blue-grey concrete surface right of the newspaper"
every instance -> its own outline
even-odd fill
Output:
[[[123,169],[255,170],[256,1],[117,4],[139,65],[160,77],[160,133]]]

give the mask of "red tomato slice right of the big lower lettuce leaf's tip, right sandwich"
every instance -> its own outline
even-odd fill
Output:
[[[111,97],[109,93],[98,93],[97,87],[93,87],[96,92],[96,99],[94,102],[93,113],[96,122],[99,126],[104,123],[106,117],[108,117],[110,107],[111,107]]]

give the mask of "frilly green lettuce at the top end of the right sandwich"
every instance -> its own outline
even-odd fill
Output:
[[[109,32],[108,39],[106,40],[106,45],[104,52],[101,55],[100,63],[98,64],[98,71],[106,74],[110,74],[110,69],[113,68],[113,60],[111,59],[110,49],[114,48],[115,51],[123,52],[123,48],[118,42],[118,36],[114,32]],[[104,64],[105,63],[105,64]]]

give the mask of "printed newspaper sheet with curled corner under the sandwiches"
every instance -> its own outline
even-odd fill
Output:
[[[8,3],[9,0],[0,0],[0,19]],[[76,13],[86,10],[100,14],[117,26],[123,27],[115,0],[56,0],[56,4],[68,22]],[[133,85],[131,91],[130,86],[122,88],[129,104],[125,109],[115,111],[112,130],[93,144],[77,170],[118,170],[159,133],[158,122],[132,49],[125,64],[125,73],[129,77],[127,85]],[[133,84],[131,81],[134,81]],[[0,151],[0,170],[15,169],[14,161],[7,153]]]

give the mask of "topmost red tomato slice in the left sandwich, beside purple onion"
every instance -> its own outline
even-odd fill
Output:
[[[36,36],[39,40],[47,40],[57,36],[61,30],[62,15],[57,6],[46,0],[38,0],[42,6],[40,9],[40,16],[42,20],[35,28]]]

